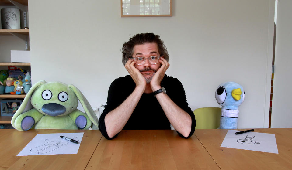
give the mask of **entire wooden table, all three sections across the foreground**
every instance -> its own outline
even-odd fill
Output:
[[[107,140],[98,130],[0,129],[0,170],[292,169],[292,128],[255,129],[275,134],[279,154],[220,147],[227,131],[196,130],[183,139],[174,130],[123,130]],[[76,132],[84,132],[78,154],[16,156],[36,134]]]

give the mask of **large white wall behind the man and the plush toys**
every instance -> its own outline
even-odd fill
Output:
[[[182,82],[192,110],[221,107],[217,86],[235,81],[246,94],[238,128],[267,127],[274,1],[172,2],[172,17],[122,18],[120,1],[29,0],[33,83],[74,84],[98,107],[106,103],[110,83],[128,74],[122,44],[154,32],[169,51],[166,74]]]

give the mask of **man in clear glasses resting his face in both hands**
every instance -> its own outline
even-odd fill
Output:
[[[137,34],[123,44],[123,64],[130,75],[109,87],[99,130],[107,139],[122,129],[170,129],[189,138],[196,120],[180,81],[165,75],[169,55],[153,33]],[[166,93],[165,93],[166,91]]]

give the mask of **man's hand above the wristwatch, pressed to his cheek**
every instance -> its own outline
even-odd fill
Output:
[[[157,70],[150,82],[150,86],[153,92],[161,88],[160,83],[165,75],[166,70],[169,67],[169,63],[164,58],[160,57],[160,60],[158,61],[161,63],[161,67]]]

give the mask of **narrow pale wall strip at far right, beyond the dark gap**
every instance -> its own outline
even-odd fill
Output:
[[[271,127],[292,127],[291,105],[291,44],[292,1],[278,2],[278,19],[275,47],[275,73],[273,84],[273,106]]]

